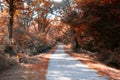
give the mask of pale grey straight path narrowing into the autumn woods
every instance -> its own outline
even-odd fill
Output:
[[[108,80],[108,78],[99,76],[96,70],[69,56],[60,44],[50,57],[46,80]]]

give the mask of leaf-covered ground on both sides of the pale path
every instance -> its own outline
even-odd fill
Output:
[[[48,61],[56,48],[41,53],[36,56],[26,56],[25,63],[18,63],[10,69],[3,71],[0,74],[0,80],[45,80]],[[107,75],[110,80],[120,80],[120,70],[108,67],[87,54],[78,54],[70,50],[70,46],[65,46],[65,51],[72,57],[87,64],[90,68],[99,72],[100,76]]]

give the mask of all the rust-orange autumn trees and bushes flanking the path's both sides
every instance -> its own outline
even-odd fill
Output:
[[[119,68],[120,0],[66,1],[64,9],[54,9],[50,0],[2,0],[0,58],[6,53],[40,54],[63,42]]]

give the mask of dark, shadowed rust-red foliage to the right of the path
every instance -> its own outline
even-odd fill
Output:
[[[74,2],[80,12],[71,10],[69,14],[73,16],[68,14],[63,18],[63,22],[71,25],[72,30],[76,32],[79,45],[87,40],[84,44],[87,45],[85,49],[97,51],[96,55],[100,61],[118,68],[120,66],[120,1],[75,0]]]

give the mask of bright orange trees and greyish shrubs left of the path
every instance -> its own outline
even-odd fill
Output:
[[[52,20],[47,18],[50,6],[44,0],[0,1],[0,70],[9,68],[11,56],[37,55],[55,46]]]

